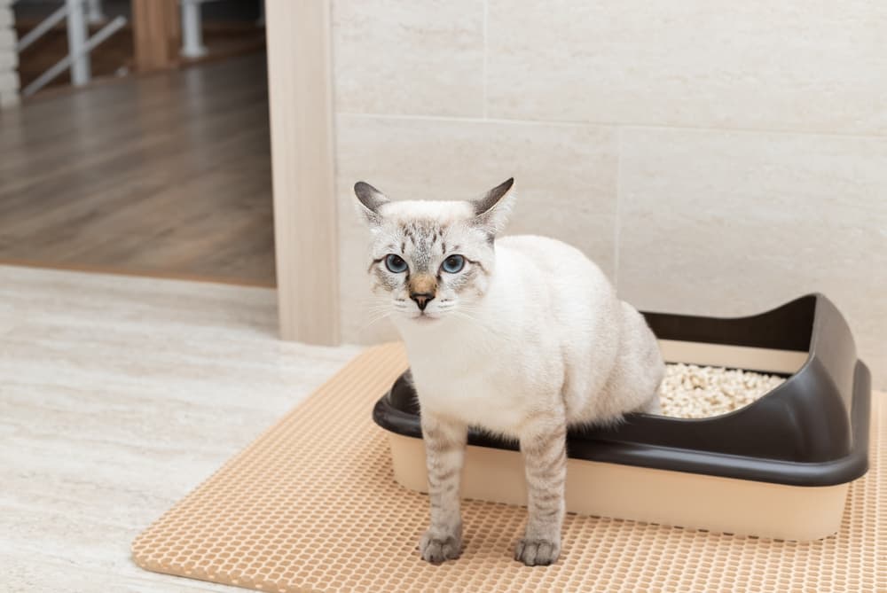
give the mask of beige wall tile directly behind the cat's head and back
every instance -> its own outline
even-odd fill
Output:
[[[351,188],[373,183],[392,199],[474,198],[510,176],[517,207],[507,232],[560,238],[613,270],[616,137],[611,129],[481,121],[340,117],[336,186],[341,316],[346,341],[393,335],[365,325],[368,233]]]

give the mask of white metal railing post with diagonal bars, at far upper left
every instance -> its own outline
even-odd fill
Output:
[[[98,47],[99,43],[114,35],[122,27],[125,27],[127,20],[124,17],[116,17],[106,24],[105,27],[99,29],[98,33],[90,37],[87,13],[85,11],[87,4],[89,4],[90,21],[100,19],[101,4],[98,0],[65,0],[65,4],[60,6],[55,12],[52,12],[39,25],[28,31],[27,35],[22,36],[19,43],[16,44],[16,51],[20,52],[45,35],[52,27],[58,25],[59,22],[67,19],[67,56],[50,66],[34,82],[31,82],[21,90],[21,94],[24,97],[30,97],[38,90],[43,89],[44,86],[52,82],[56,76],[67,69],[71,71],[71,83],[74,86],[82,86],[90,82],[92,75],[90,51]]]

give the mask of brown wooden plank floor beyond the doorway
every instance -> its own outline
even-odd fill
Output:
[[[0,112],[0,262],[274,284],[264,54]]]

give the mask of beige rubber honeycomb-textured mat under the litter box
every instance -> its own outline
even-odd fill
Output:
[[[373,403],[406,367],[373,347],[263,433],[133,543],[148,570],[263,591],[887,591],[883,394],[871,470],[844,522],[811,543],[568,515],[553,566],[512,559],[525,509],[467,501],[462,558],[422,562],[428,499],[392,477]],[[650,493],[655,504],[655,493]]]

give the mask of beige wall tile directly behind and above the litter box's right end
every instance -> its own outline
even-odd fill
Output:
[[[621,145],[625,298],[740,315],[824,293],[887,386],[887,138],[633,129]]]

